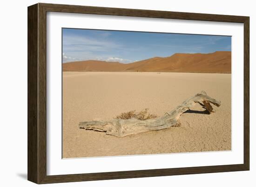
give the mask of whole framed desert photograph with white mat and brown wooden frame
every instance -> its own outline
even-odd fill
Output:
[[[28,180],[249,170],[249,17],[28,7]]]

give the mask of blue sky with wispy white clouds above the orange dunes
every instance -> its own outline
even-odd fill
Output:
[[[175,53],[231,51],[231,37],[155,32],[62,30],[63,62],[105,60],[131,63]]]

